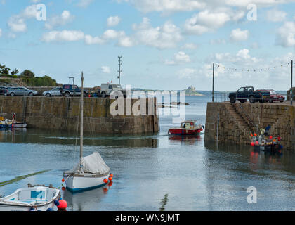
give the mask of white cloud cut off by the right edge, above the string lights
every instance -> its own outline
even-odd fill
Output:
[[[285,22],[277,30],[276,44],[284,47],[295,46],[295,22]]]

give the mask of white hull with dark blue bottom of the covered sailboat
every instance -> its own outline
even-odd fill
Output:
[[[72,193],[77,193],[105,186],[107,183],[105,183],[104,180],[109,179],[109,176],[110,174],[107,174],[107,176],[70,175],[64,176],[64,179],[67,190],[71,191]]]

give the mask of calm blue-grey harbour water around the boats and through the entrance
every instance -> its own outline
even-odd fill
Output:
[[[186,118],[205,124],[209,96],[187,96]],[[98,151],[112,169],[112,186],[84,193],[62,191],[67,210],[295,210],[295,153],[255,153],[251,146],[217,146],[198,137],[169,136],[172,116],[159,134],[85,134],[84,155]],[[61,185],[79,158],[76,132],[0,131],[0,195],[30,184]],[[77,142],[77,146],[76,146]],[[27,178],[18,176],[42,172]],[[16,179],[15,179],[16,178]],[[13,180],[14,179],[14,180]],[[13,181],[11,181],[13,180]],[[11,181],[6,182],[4,181]],[[258,191],[247,202],[247,188]]]

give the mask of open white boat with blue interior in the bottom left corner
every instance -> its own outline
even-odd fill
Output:
[[[0,211],[46,211],[54,207],[60,190],[44,186],[20,188],[15,193],[0,198]]]

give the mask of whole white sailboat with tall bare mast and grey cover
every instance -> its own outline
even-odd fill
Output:
[[[84,77],[81,76],[81,93]],[[67,189],[71,192],[88,191],[94,188],[105,186],[109,179],[112,180],[110,167],[108,167],[98,152],[83,158],[83,110],[84,96],[81,94],[81,124],[80,124],[80,160],[79,164],[73,169],[63,173]]]

